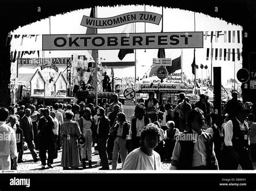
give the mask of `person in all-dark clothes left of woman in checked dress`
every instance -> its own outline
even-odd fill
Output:
[[[48,152],[47,165],[53,168],[54,158],[54,133],[55,122],[50,116],[50,111],[45,108],[43,111],[44,117],[38,121],[38,143],[39,153],[42,162],[42,168],[46,165],[46,152]]]

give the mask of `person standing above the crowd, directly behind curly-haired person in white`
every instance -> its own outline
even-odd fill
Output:
[[[149,92],[149,99],[145,101],[146,116],[151,119],[152,122],[158,121],[158,105],[159,101],[154,98],[154,91]]]

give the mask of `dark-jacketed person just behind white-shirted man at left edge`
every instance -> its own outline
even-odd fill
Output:
[[[10,120],[10,123],[7,125],[14,129],[14,132],[16,135],[17,153],[19,153],[23,151],[23,131],[21,128],[19,128],[17,117],[15,115],[11,115],[9,117],[9,120]],[[11,170],[14,170],[13,166],[14,166],[14,160],[11,158]]]

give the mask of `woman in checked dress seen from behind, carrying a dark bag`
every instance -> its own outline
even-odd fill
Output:
[[[78,137],[81,135],[78,122],[72,121],[73,112],[66,111],[66,121],[60,127],[60,139],[62,140],[62,163],[63,170],[71,167],[75,170],[80,166]]]

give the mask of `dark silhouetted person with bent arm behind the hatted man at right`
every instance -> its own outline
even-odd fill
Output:
[[[227,101],[227,105],[225,107],[225,113],[229,115],[230,118],[235,117],[235,110],[237,109],[237,105],[241,104],[241,100],[238,99],[237,90],[232,90],[231,92],[232,99]]]

